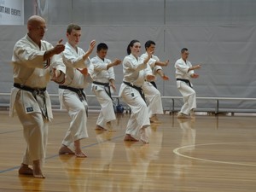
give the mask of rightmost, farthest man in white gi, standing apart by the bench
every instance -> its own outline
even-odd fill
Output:
[[[195,119],[194,109],[196,108],[196,97],[190,79],[199,77],[194,70],[201,68],[201,65],[192,66],[187,60],[189,57],[189,50],[187,48],[181,49],[181,56],[174,66],[176,68],[177,89],[183,95],[184,102],[180,112],[177,113],[177,118],[189,118],[190,114],[191,119]]]

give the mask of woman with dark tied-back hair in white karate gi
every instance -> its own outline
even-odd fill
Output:
[[[153,81],[154,75],[147,70],[147,63],[151,53],[143,60],[139,57],[141,44],[138,40],[132,40],[127,47],[127,56],[123,61],[124,79],[120,86],[119,96],[131,108],[131,117],[125,131],[125,141],[138,141],[136,136],[139,132],[143,143],[148,143],[148,129],[150,125],[148,108],[144,100],[142,86],[145,80]]]

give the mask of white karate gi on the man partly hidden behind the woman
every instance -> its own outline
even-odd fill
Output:
[[[145,60],[147,57],[148,53],[141,55],[143,60]],[[160,61],[160,59],[156,55],[152,55],[151,59],[148,61],[148,70],[156,76],[157,70],[162,69],[162,67],[155,66],[155,61]],[[160,91],[157,90],[153,84],[147,81],[145,81],[143,84],[143,91],[148,103],[149,117],[151,117],[153,114],[163,114],[164,112]]]

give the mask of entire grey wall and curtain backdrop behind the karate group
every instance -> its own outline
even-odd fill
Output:
[[[189,49],[189,61],[202,64],[199,79],[193,84],[197,96],[255,97],[256,1],[253,0],[51,0],[25,1],[27,12],[46,18],[49,30],[45,39],[55,44],[66,40],[70,22],[82,26],[79,46],[88,49],[90,41],[108,44],[108,58],[123,59],[127,44],[138,39],[143,44],[156,42],[156,55],[170,59],[165,73],[170,81],[157,80],[162,96],[180,96],[174,78],[174,63],[180,49]],[[209,9],[211,7],[211,9]],[[26,14],[28,18],[30,15]],[[26,18],[26,19],[27,19]],[[0,26],[0,92],[12,87],[9,65],[15,42],[26,33],[26,26]],[[96,55],[94,51],[91,56]],[[122,67],[114,68],[116,84],[122,81]],[[57,85],[50,83],[50,93]],[[86,89],[92,94],[90,87]],[[116,93],[117,94],[117,93]],[[0,96],[0,102],[9,98]],[[58,103],[57,98],[53,102]],[[169,101],[163,101],[165,107]],[[97,105],[96,100],[90,102]],[[177,103],[177,107],[182,101]],[[255,108],[254,102],[223,102],[224,108]],[[214,102],[199,101],[199,108],[214,108]]]

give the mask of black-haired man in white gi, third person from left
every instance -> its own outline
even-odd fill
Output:
[[[96,121],[96,130],[112,131],[111,121],[116,119],[113,110],[112,91],[115,91],[115,76],[113,67],[118,66],[122,61],[116,59],[111,62],[105,58],[108,52],[108,45],[101,43],[97,45],[97,55],[91,59],[94,68],[92,75],[92,91],[96,95],[102,109]]]

